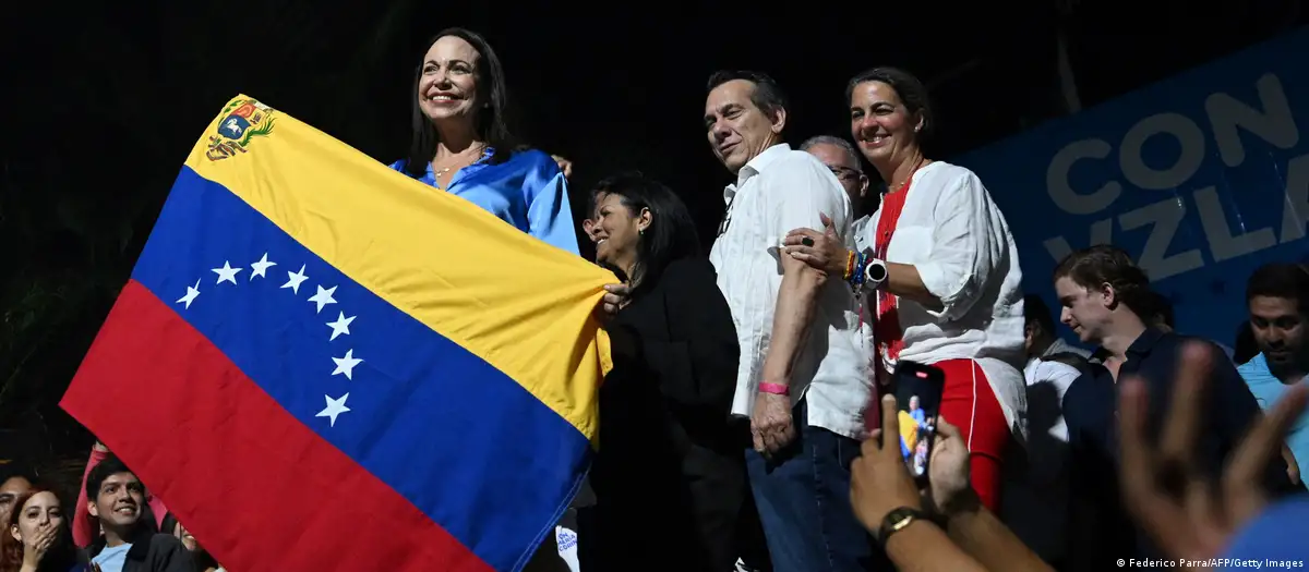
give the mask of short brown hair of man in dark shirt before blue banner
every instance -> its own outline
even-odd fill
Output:
[[[1055,266],[1054,279],[1064,277],[1088,290],[1107,283],[1114,289],[1114,298],[1134,313],[1141,317],[1151,313],[1149,277],[1122,248],[1097,244],[1076,251]]]

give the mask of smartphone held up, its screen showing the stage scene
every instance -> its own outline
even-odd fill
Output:
[[[906,360],[895,364],[893,387],[899,406],[901,456],[910,474],[920,482],[927,481],[944,385],[945,375],[940,368]]]

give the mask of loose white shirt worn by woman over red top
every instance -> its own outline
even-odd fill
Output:
[[[876,244],[881,215],[878,208],[864,229],[868,244]],[[899,299],[905,342],[899,359],[925,364],[975,359],[1005,421],[1021,436],[1026,409],[1022,270],[1009,225],[982,180],[942,161],[919,168],[886,261],[916,268],[923,286],[944,306],[935,311]]]

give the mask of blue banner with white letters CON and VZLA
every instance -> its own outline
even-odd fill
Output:
[[[1117,244],[1173,302],[1178,332],[1232,345],[1250,272],[1309,253],[1304,54],[1309,30],[957,158],[1004,209],[1026,290],[1058,320],[1055,264]]]

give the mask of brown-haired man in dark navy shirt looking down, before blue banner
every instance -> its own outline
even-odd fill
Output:
[[[1073,454],[1072,490],[1079,498],[1073,520],[1086,524],[1084,534],[1075,538],[1079,550],[1090,552],[1071,559],[1102,569],[1115,558],[1158,558],[1119,501],[1121,483],[1115,478],[1119,449],[1113,431],[1118,413],[1115,383],[1124,376],[1139,376],[1151,396],[1169,394],[1178,350],[1187,338],[1147,324],[1149,281],[1122,248],[1102,244],[1068,255],[1055,268],[1054,283],[1063,306],[1060,320],[1084,343],[1100,345],[1097,351],[1109,357],[1103,366],[1081,373],[1063,400]],[[1207,341],[1202,346],[1213,351],[1215,362],[1221,362],[1211,373],[1212,398],[1204,409],[1210,422],[1196,454],[1199,469],[1216,477],[1223,458],[1259,417],[1259,406],[1223,351]],[[1161,418],[1162,409],[1156,406],[1151,419]],[[1149,428],[1157,432],[1158,424],[1152,421]],[[1280,460],[1267,469],[1271,490],[1291,490]],[[1086,515],[1092,508],[1093,513]]]

